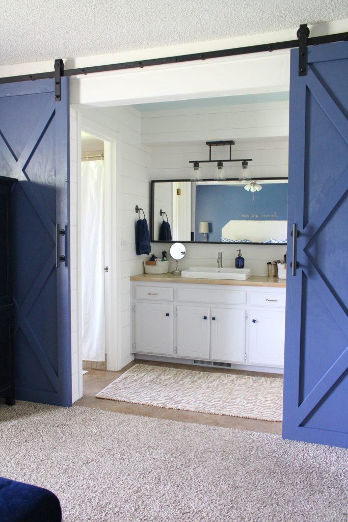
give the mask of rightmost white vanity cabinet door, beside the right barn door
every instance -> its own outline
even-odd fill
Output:
[[[284,365],[284,310],[254,310],[250,313],[249,363]]]

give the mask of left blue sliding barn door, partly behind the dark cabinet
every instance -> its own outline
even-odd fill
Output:
[[[66,78],[59,102],[54,79],[0,86],[0,174],[19,180],[12,198],[16,398],[61,406],[71,405],[68,128]]]

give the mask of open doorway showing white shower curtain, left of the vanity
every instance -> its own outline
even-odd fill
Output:
[[[81,131],[80,346],[82,370],[107,369],[110,351],[110,143]]]

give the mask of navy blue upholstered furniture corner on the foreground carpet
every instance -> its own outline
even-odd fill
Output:
[[[61,522],[61,504],[49,490],[0,477],[2,522]]]

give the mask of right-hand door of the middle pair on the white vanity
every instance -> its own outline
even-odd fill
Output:
[[[245,362],[245,314],[245,310],[211,309],[211,359]]]

